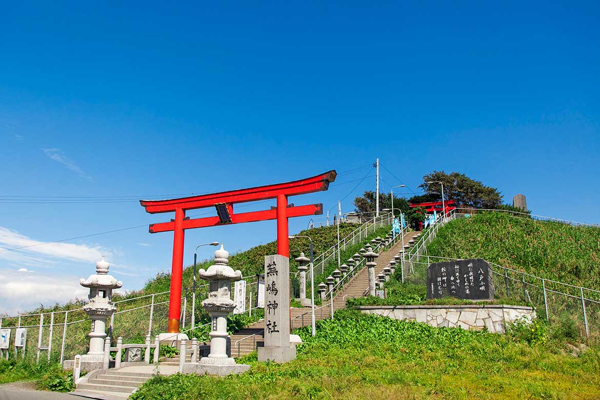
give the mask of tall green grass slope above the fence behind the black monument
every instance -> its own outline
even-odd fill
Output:
[[[430,255],[481,257],[512,269],[600,288],[600,228],[478,213],[440,228]]]

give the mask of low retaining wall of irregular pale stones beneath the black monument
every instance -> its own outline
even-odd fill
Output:
[[[426,322],[435,327],[462,327],[504,333],[505,323],[519,318],[531,321],[535,310],[526,306],[490,305],[416,305],[416,306],[359,306],[365,314],[378,314],[395,320]]]

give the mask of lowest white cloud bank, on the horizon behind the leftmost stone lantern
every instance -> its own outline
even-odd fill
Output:
[[[79,278],[68,275],[39,275],[0,269],[0,313],[28,312],[40,304],[51,306],[86,299],[89,290]]]

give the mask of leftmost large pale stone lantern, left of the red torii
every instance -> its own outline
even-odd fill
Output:
[[[92,320],[92,329],[89,332],[88,354],[81,356],[81,369],[91,371],[103,368],[104,339],[106,339],[106,320],[116,311],[112,302],[112,291],[122,287],[123,282],[117,281],[108,275],[109,263],[102,260],[96,263],[96,273],[88,279],[80,279],[79,284],[89,288],[89,303],[83,306],[83,311]],[[72,364],[71,364],[72,365]]]

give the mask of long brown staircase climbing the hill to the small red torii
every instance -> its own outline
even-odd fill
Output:
[[[382,269],[388,265],[389,261],[398,254],[398,251],[404,246],[410,246],[415,242],[415,237],[418,232],[408,232],[404,234],[402,242],[398,240],[394,246],[387,251],[379,254],[376,258],[377,266],[375,267],[375,275],[382,272]],[[409,243],[410,242],[410,243]],[[399,268],[400,266],[398,266]],[[338,291],[334,296],[334,311],[346,308],[346,300],[350,297],[362,297],[365,291],[368,290],[368,271],[367,267],[363,267],[358,273],[348,282],[341,291]],[[292,318],[292,329],[296,329],[311,324],[311,309],[310,307],[292,308],[290,311]],[[315,310],[315,320],[323,320],[331,317],[331,307],[328,301],[324,301],[322,306],[318,306]],[[256,350],[257,343],[264,341],[263,330],[265,329],[265,321],[256,321],[248,327],[231,335],[231,354],[232,357],[244,356],[251,351]],[[240,341],[241,339],[244,339]],[[238,344],[236,342],[240,341]]]

